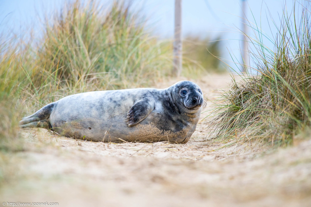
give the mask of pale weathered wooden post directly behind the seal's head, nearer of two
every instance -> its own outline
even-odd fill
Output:
[[[173,45],[173,71],[179,76],[182,70],[182,41],[181,41],[181,0],[175,0],[175,23]]]

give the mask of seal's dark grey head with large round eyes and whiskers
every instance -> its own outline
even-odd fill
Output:
[[[201,88],[191,81],[179,81],[172,87],[172,95],[178,108],[188,113],[195,113],[204,103]]]

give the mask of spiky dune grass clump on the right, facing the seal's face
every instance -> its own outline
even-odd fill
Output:
[[[255,48],[250,55],[258,67],[235,80],[220,97],[210,119],[214,139],[230,142],[257,140],[290,145],[311,126],[311,22],[310,2],[284,8],[275,48],[265,47],[260,28],[250,24]],[[299,8],[298,8],[299,7]],[[271,25],[276,25],[272,22]]]

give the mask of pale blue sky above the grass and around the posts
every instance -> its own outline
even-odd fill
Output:
[[[63,7],[68,0],[0,0],[0,33],[23,34],[25,29],[34,29],[40,34],[42,19]],[[70,0],[69,0],[70,1]],[[110,5],[113,0],[99,0],[103,5]],[[159,38],[173,38],[174,34],[174,0],[124,0],[133,1],[133,10],[139,10],[148,20],[148,28]],[[293,1],[285,0],[248,0],[246,17],[256,22],[264,33],[271,37],[276,34],[276,27],[268,24],[271,19],[279,22],[283,7],[290,11]],[[231,56],[240,61],[239,29],[242,28],[242,0],[182,0],[182,36],[199,36],[202,38],[220,37],[221,56],[231,67]],[[248,33],[253,31],[248,29]],[[267,40],[267,47],[273,43]],[[251,61],[251,66],[253,62]],[[234,70],[238,70],[236,67]]]

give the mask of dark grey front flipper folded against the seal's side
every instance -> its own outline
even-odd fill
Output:
[[[133,126],[145,119],[155,109],[155,102],[142,99],[137,101],[128,111],[127,124]]]

